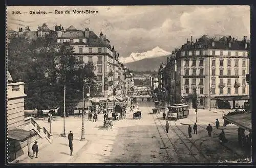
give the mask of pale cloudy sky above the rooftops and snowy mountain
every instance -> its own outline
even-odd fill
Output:
[[[30,11],[47,14],[29,14]],[[63,14],[55,14],[55,10]],[[65,11],[71,14],[65,14]],[[97,10],[96,14],[72,14],[73,10]],[[20,11],[22,14],[13,14]],[[28,12],[24,14],[24,12]],[[53,13],[49,13],[53,12]],[[194,41],[209,36],[250,36],[249,6],[9,6],[7,27],[30,26],[31,31],[46,23],[50,29],[55,24],[64,29],[89,28],[97,35],[106,35],[120,57],[142,53],[159,46],[172,52],[193,36]]]

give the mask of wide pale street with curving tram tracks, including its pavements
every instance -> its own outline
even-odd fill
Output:
[[[74,156],[69,156],[68,139],[60,137],[63,133],[63,119],[52,123],[54,142],[47,147],[49,157],[50,148],[54,151],[51,163],[186,163],[186,162],[218,162],[244,159],[247,155],[237,148],[237,127],[228,125],[225,129],[226,138],[229,139],[227,147],[218,141],[221,129],[216,129],[214,122],[219,118],[223,125],[222,110],[199,110],[198,134],[188,138],[187,125],[195,122],[194,110],[189,111],[189,117],[177,122],[168,121],[171,125],[169,133],[165,132],[165,123],[162,113],[152,114],[152,102],[139,102],[142,111],[141,119],[133,119],[133,112],[127,110],[126,118],[113,121],[113,128],[102,128],[103,115],[98,115],[97,122],[85,119],[86,139],[88,142],[80,145],[81,118],[70,116],[66,118],[66,134],[71,130],[74,133]],[[49,130],[49,123],[38,121],[41,126]],[[182,124],[181,124],[182,123]],[[212,137],[208,137],[205,130],[208,124],[214,128]],[[222,128],[222,127],[221,127]],[[57,147],[60,143],[61,147]],[[63,144],[64,143],[64,144]],[[67,143],[67,144],[65,144]],[[76,149],[79,148],[79,149]],[[41,152],[40,152],[41,151]],[[44,149],[40,149],[39,157],[27,162],[47,162]],[[53,159],[53,157],[65,159]],[[44,161],[40,161],[44,159]]]

